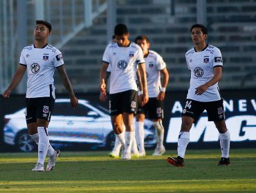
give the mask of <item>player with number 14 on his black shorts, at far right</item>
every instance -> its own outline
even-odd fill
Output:
[[[188,69],[191,73],[190,88],[182,112],[181,132],[178,138],[178,156],[168,157],[167,161],[178,167],[184,166],[185,150],[190,141],[192,123],[206,110],[208,121],[214,121],[219,131],[221,160],[217,165],[230,165],[230,132],[226,128],[223,99],[219,94],[218,82],[222,74],[222,57],[219,48],[206,43],[208,30],[201,24],[191,29],[194,48],[185,53]]]

